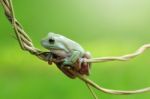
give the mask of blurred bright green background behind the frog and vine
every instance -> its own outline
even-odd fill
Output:
[[[150,43],[149,0],[13,0],[17,19],[36,47],[48,32],[65,35],[93,57],[118,56]],[[0,5],[0,99],[92,99],[85,84],[72,80],[20,49]],[[150,86],[150,51],[127,62],[92,65],[90,78],[111,89]],[[150,99],[150,93],[100,99]]]

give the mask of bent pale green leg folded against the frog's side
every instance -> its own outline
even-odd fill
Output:
[[[81,57],[81,52],[73,51],[70,57],[64,59],[63,66],[73,66],[73,64]]]

